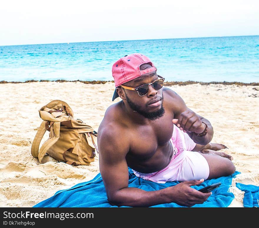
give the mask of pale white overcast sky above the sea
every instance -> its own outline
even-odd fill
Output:
[[[259,35],[258,0],[0,3],[0,45]]]

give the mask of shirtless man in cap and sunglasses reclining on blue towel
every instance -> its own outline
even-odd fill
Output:
[[[112,76],[116,87],[112,100],[121,100],[107,108],[97,136],[99,169],[109,203],[202,204],[211,193],[190,186],[235,172],[232,157],[216,151],[225,147],[210,143],[210,122],[190,110],[176,92],[162,87],[164,78],[143,54],[120,58],[112,66]],[[146,180],[180,183],[157,191],[129,188],[128,167]]]

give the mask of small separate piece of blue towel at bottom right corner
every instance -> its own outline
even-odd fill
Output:
[[[259,186],[236,183],[236,187],[245,192],[244,207],[259,207]]]

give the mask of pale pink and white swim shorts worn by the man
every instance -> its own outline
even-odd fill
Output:
[[[140,178],[156,183],[167,181],[191,181],[206,180],[210,174],[207,160],[198,152],[191,151],[196,143],[174,125],[173,135],[170,139],[174,148],[174,154],[170,163],[160,171],[154,173],[139,173],[132,169],[133,173]]]

